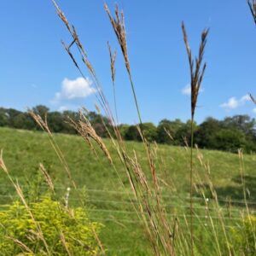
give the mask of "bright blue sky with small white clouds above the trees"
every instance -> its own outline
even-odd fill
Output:
[[[189,66],[181,32],[186,24],[192,51],[197,53],[201,31],[210,28],[205,60],[207,72],[195,113],[197,122],[218,119],[256,108],[247,93],[256,95],[256,27],[246,0],[120,0],[125,12],[131,73],[143,121],[189,119]],[[59,0],[76,26],[103,90],[113,106],[107,41],[118,49],[116,90],[119,121],[136,123],[137,114],[122,55],[103,2]],[[95,90],[80,75],[61,46],[71,42],[50,1],[1,2],[0,106],[25,110],[44,104],[52,110],[84,106],[94,109]],[[85,71],[85,69],[84,69]]]

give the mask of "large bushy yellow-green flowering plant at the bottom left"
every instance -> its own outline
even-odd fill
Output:
[[[100,224],[90,222],[84,208],[66,208],[45,195],[29,205],[19,201],[0,212],[1,255],[29,253],[44,255],[47,244],[51,255],[95,255],[98,253],[95,234]],[[35,221],[34,221],[35,220]],[[44,236],[44,241],[40,232]],[[26,247],[27,249],[26,249]]]

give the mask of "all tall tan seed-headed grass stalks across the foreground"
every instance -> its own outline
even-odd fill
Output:
[[[143,167],[140,159],[140,155],[136,150],[128,150],[123,138],[121,137],[119,127],[118,127],[118,114],[117,114],[117,104],[115,96],[115,58],[116,51],[113,51],[108,44],[108,50],[110,55],[110,70],[111,78],[113,82],[113,98],[114,98],[114,112],[115,118],[111,108],[109,107],[107,98],[104,95],[100,80],[96,76],[96,70],[93,67],[92,63],[89,61],[87,52],[83,44],[81,43],[78,33],[75,30],[75,27],[70,25],[67,20],[66,15],[62,12],[60,7],[53,1],[57,15],[60,17],[64,25],[67,27],[67,31],[71,35],[71,43],[66,44],[62,42],[67,54],[70,56],[73,64],[78,68],[79,73],[84,76],[84,66],[79,65],[79,61],[73,55],[73,47],[76,47],[79,51],[82,62],[85,65],[86,70],[90,73],[91,78],[94,81],[94,84],[97,89],[96,97],[99,101],[100,107],[103,109],[104,114],[108,117],[111,122],[110,131],[108,125],[104,123],[106,131],[110,141],[113,144],[115,153],[118,155],[119,161],[121,162],[123,169],[117,168],[115,166],[115,159],[113,158],[113,152],[108,149],[105,145],[104,140],[96,134],[96,131],[93,125],[90,124],[89,119],[86,117],[86,110],[81,109],[79,121],[74,121],[73,119],[68,119],[67,122],[73,126],[73,128],[78,131],[79,135],[83,137],[84,142],[88,143],[91,150],[98,156],[98,150],[102,151],[102,157],[105,157],[108,160],[108,165],[112,166],[117,176],[119,177],[119,182],[122,185],[122,188],[127,192],[127,197],[131,202],[134,212],[137,213],[137,218],[143,224],[143,230],[145,235],[148,237],[149,244],[151,246],[152,254],[154,255],[246,255],[246,251],[237,252],[233,246],[233,238],[230,235],[229,224],[234,224],[236,218],[238,218],[237,223],[241,222],[252,216],[249,205],[247,203],[247,189],[244,179],[245,166],[243,165],[243,156],[241,151],[239,151],[239,160],[240,160],[240,171],[241,171],[241,183],[243,187],[243,201],[246,205],[246,212],[236,212],[232,210],[231,201],[227,209],[224,210],[224,207],[220,205],[220,199],[218,198],[217,190],[215,189],[214,184],[212,183],[211,177],[211,168],[207,161],[204,158],[203,154],[199,148],[196,148],[194,145],[193,139],[193,124],[195,119],[195,110],[196,104],[198,101],[199,92],[201,89],[202,79],[206,70],[206,64],[203,62],[204,50],[207,43],[207,34],[208,30],[205,30],[201,34],[201,45],[199,49],[199,54],[197,58],[193,58],[191,49],[189,47],[189,40],[187,32],[185,30],[184,24],[182,25],[183,39],[186,46],[188,58],[189,58],[189,71],[190,71],[190,86],[191,86],[191,141],[190,145],[185,139],[185,147],[180,148],[180,154],[184,154],[188,161],[188,170],[189,170],[189,205],[187,201],[179,201],[179,208],[183,210],[176,209],[167,209],[166,203],[170,203],[170,196],[177,196],[177,184],[172,181],[170,173],[168,172],[170,166],[166,166],[166,161],[158,153],[159,147],[156,143],[148,143],[147,137],[143,133],[143,121],[141,117],[141,112],[137,102],[137,95],[135,86],[133,84],[133,79],[131,75],[131,63],[129,61],[128,49],[127,49],[127,39],[125,32],[125,18],[122,11],[119,11],[118,6],[115,9],[115,18],[111,15],[108,5],[105,4],[105,10],[107,12],[108,18],[110,20],[111,26],[113,27],[113,32],[115,33],[121,53],[125,60],[126,71],[129,75],[129,80],[131,83],[131,92],[134,97],[134,101],[137,107],[137,115],[139,119],[139,125],[137,125],[137,131],[140,134],[140,137],[143,142],[144,154],[147,159],[147,166]],[[248,2],[249,3],[249,2]],[[253,2],[254,3],[254,2]],[[253,7],[254,5],[250,5]],[[97,111],[100,112],[100,108],[97,108]],[[64,166],[65,172],[70,180],[70,185],[73,189],[77,189],[76,183],[73,180],[72,172],[67,165],[64,155],[61,152],[58,144],[55,142],[55,138],[52,133],[49,131],[47,125],[47,119],[42,119],[42,117],[33,113],[29,110],[29,113],[32,115],[33,119],[36,120],[38,125],[42,128],[43,131],[47,132],[49,136],[49,141],[52,147],[55,150],[55,154],[58,156],[61,164]],[[166,131],[167,135],[172,139],[172,134],[169,131]],[[195,149],[196,148],[196,151]],[[189,150],[190,149],[190,150]],[[101,156],[98,156],[101,157]],[[195,162],[197,167],[195,168]],[[199,170],[198,165],[201,167]],[[8,175],[11,183],[13,183],[16,192],[20,196],[20,200],[26,206],[27,211],[30,211],[29,206],[26,203],[22,190],[20,189],[19,183],[15,183],[13,178],[9,175],[8,169],[3,162],[3,157],[0,157],[0,167]],[[159,169],[165,170],[165,176],[160,177]],[[46,183],[49,185],[49,189],[55,194],[55,185],[49,176],[46,168],[43,165],[40,165],[40,170],[44,175]],[[121,177],[121,173],[125,171],[125,181],[128,181],[130,186],[130,192],[127,191],[125,187],[124,177]],[[168,192],[168,198],[163,195],[163,191]],[[196,203],[196,195],[202,198],[201,204]],[[68,195],[66,196],[66,207],[68,208]],[[172,203],[172,201],[171,201]],[[30,211],[31,212],[31,211]],[[241,213],[241,216],[239,216]],[[32,214],[32,212],[31,212]],[[71,212],[72,214],[72,212]],[[33,219],[33,215],[31,216]],[[251,218],[249,218],[251,219]],[[236,224],[237,224],[236,223]],[[249,224],[253,230],[253,222],[250,220]],[[196,232],[199,232],[198,235]],[[42,233],[42,232],[41,232]],[[40,233],[40,226],[38,226],[38,236],[42,241],[44,241],[44,234]],[[201,237],[201,234],[203,236]],[[255,239],[255,233],[253,233],[253,241]],[[124,235],[124,234],[123,234]],[[67,255],[72,255],[72,252],[67,244],[67,237],[64,233],[60,231],[61,244],[65,248]],[[207,241],[205,237],[209,237],[208,242],[211,243],[212,252],[203,252],[201,249],[201,243]],[[19,244],[20,247],[26,253],[31,253],[32,250],[29,247],[26,247],[21,241],[15,239],[15,237],[10,237],[10,240],[14,241],[16,244]],[[95,240],[97,241],[99,247],[101,248],[101,254],[105,253],[104,247],[102,246],[102,241],[97,236],[95,232]],[[202,240],[202,241],[201,241]],[[247,242],[249,244],[249,242]],[[45,243],[45,253],[49,255],[48,245]],[[255,247],[256,250],[256,247]]]

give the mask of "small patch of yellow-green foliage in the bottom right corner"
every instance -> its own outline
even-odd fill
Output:
[[[256,217],[247,216],[241,225],[232,229],[232,246],[238,255],[253,256],[256,253]],[[240,253],[243,254],[240,254]]]

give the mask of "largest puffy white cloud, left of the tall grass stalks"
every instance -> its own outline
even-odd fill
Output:
[[[92,81],[88,78],[64,79],[61,83],[61,91],[55,93],[53,102],[86,98],[96,93],[96,89],[91,87],[91,84]]]

